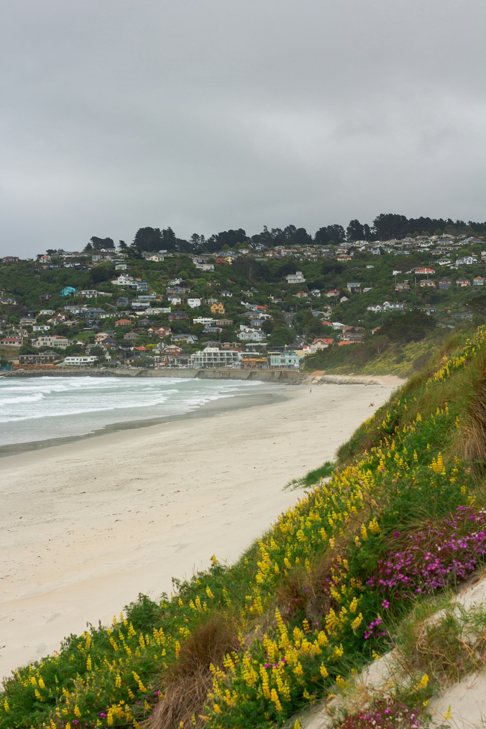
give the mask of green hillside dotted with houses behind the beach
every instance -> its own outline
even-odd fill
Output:
[[[211,252],[92,238],[81,252],[5,255],[1,365],[358,371],[486,310],[484,235],[265,244],[230,232]]]

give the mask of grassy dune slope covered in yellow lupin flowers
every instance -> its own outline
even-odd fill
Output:
[[[444,534],[458,507],[485,505],[485,373],[486,333],[454,335],[340,449],[331,482],[238,563],[214,560],[171,598],[141,596],[110,628],[19,669],[0,697],[0,728],[276,727],[345,685],[429,596],[413,571],[407,590],[380,585],[383,564],[418,534]],[[465,560],[469,572],[477,561]],[[454,564],[442,565],[444,585]],[[403,695],[423,712],[434,687],[414,680]]]

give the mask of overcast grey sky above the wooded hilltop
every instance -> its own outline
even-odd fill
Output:
[[[3,0],[0,255],[486,219],[484,0]]]

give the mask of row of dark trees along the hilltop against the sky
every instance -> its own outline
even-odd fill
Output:
[[[125,241],[119,241],[119,249],[128,249],[130,256],[138,258],[142,251],[158,252],[160,250],[176,251],[180,253],[208,252],[216,253],[227,246],[311,246],[328,245],[331,243],[351,243],[354,241],[388,241],[393,238],[401,240],[409,235],[484,235],[486,222],[469,220],[452,220],[451,218],[418,217],[407,218],[396,213],[380,213],[375,217],[372,225],[361,223],[358,219],[350,220],[346,229],[337,223],[320,227],[314,235],[307,233],[304,227],[287,225],[284,228],[268,228],[264,225],[261,233],[246,235],[243,228],[223,230],[213,233],[208,238],[200,233],[192,233],[188,240],[177,238],[171,227],[141,227],[137,230],[133,242],[127,246]],[[101,249],[114,249],[116,246],[111,238],[98,238],[93,235],[87,243],[85,251]]]

